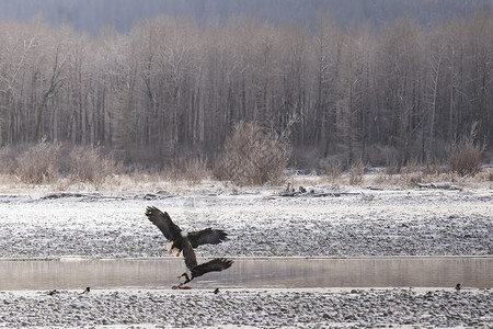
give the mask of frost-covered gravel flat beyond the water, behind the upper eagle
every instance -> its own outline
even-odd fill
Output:
[[[184,230],[228,231],[228,242],[200,247],[199,257],[493,253],[491,190],[145,195],[0,197],[0,257],[163,257],[164,237],[144,215],[150,205],[167,211]]]

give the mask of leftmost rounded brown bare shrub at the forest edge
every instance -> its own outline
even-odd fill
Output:
[[[59,177],[59,155],[60,145],[42,140],[20,155],[15,173],[27,184],[51,183]]]

